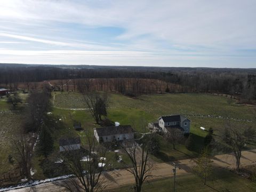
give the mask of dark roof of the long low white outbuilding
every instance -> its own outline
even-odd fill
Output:
[[[99,137],[115,134],[134,133],[131,125],[108,126],[95,129]]]

